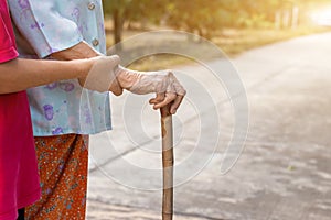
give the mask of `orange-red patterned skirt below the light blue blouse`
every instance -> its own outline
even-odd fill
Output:
[[[42,197],[28,220],[83,220],[86,210],[88,135],[35,138]]]

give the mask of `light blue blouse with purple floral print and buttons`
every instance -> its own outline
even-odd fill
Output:
[[[82,41],[106,53],[102,0],[10,0],[9,6],[18,34],[40,58]],[[30,56],[22,45],[20,54]],[[109,94],[83,89],[76,79],[29,89],[28,96],[35,136],[111,129]]]

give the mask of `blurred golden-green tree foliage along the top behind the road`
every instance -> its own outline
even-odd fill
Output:
[[[125,24],[168,25],[206,38],[222,29],[293,29],[307,24],[311,6],[329,0],[104,0],[106,18],[114,21],[120,42]],[[137,26],[137,25],[136,25]]]

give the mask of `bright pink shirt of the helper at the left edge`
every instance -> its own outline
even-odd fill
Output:
[[[0,63],[18,56],[6,0],[0,0]],[[0,95],[0,219],[17,219],[19,208],[39,198],[40,184],[26,94]]]

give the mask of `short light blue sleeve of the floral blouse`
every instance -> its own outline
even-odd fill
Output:
[[[12,19],[39,57],[83,41],[76,23],[58,13],[56,0],[9,1]]]

